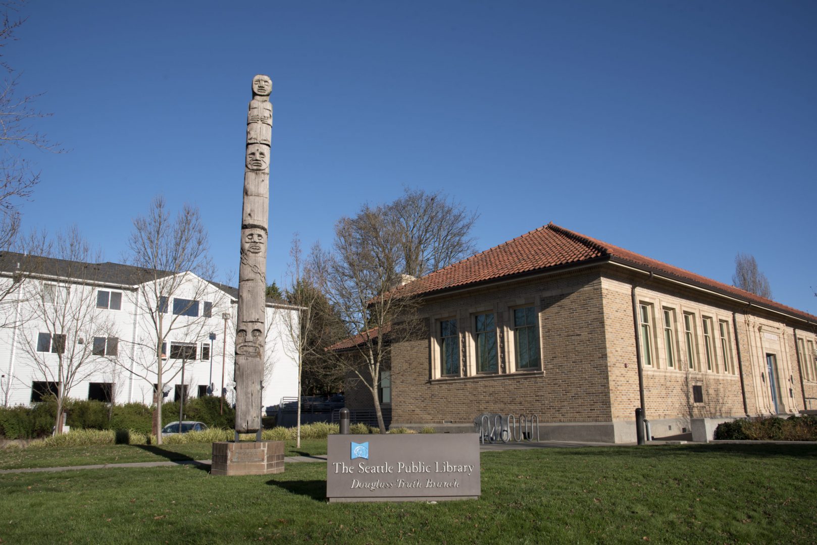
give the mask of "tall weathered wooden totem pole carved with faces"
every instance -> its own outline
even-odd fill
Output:
[[[252,78],[241,215],[239,308],[235,332],[235,432],[261,429],[261,380],[266,337],[266,241],[270,202],[272,81]]]

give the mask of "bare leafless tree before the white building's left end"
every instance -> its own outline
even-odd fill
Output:
[[[96,305],[100,256],[92,257],[76,227],[56,236],[54,256],[29,277],[22,312],[36,328],[20,332],[20,349],[33,373],[42,377],[41,393],[56,397],[55,433],[62,430],[62,409],[72,388],[118,359],[118,334],[105,310]],[[35,260],[36,260],[35,259]]]

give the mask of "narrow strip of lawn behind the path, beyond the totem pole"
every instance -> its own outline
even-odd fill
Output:
[[[326,440],[286,441],[287,456],[325,454]],[[100,463],[167,462],[167,460],[209,460],[212,444],[105,444],[87,447],[42,447],[0,450],[0,469],[20,467],[90,466]]]

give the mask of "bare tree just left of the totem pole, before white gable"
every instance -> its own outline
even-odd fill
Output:
[[[136,334],[138,350],[127,370],[156,385],[158,428],[164,386],[181,373],[181,361],[189,350],[185,346],[208,337],[207,318],[220,315],[227,303],[223,291],[209,281],[215,269],[198,208],[185,203],[172,219],[163,197],[154,198],[147,215],[133,220],[128,247],[128,261],[138,267],[131,297],[137,312],[147,319],[139,321],[144,327]],[[176,343],[168,352],[171,337]],[[162,444],[161,433],[156,439]]]

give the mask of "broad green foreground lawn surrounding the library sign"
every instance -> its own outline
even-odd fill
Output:
[[[0,476],[0,543],[815,543],[817,446],[483,453],[476,501],[324,501],[326,467]]]

